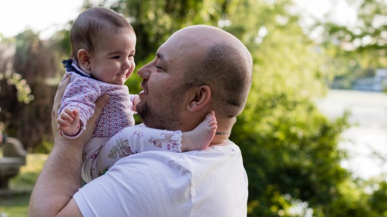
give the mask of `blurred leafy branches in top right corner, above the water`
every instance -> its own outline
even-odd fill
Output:
[[[319,21],[311,30],[322,29],[321,46],[329,50],[329,61],[341,78],[351,81],[373,76],[377,68],[387,68],[387,2],[346,1],[356,9],[354,24]]]

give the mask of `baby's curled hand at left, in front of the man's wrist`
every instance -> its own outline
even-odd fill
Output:
[[[65,107],[56,119],[58,129],[67,135],[78,133],[80,126],[79,112],[77,109],[71,110]]]

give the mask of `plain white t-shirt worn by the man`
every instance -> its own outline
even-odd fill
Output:
[[[84,216],[246,216],[247,175],[238,146],[149,151],[117,161],[75,193]]]

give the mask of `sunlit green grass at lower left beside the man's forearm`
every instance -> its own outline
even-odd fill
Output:
[[[32,188],[47,157],[45,154],[27,155],[26,165],[10,179],[11,195],[0,196],[0,216],[3,216],[2,213],[8,217],[27,216]]]

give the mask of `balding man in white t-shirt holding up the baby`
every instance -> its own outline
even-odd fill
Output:
[[[251,73],[251,55],[231,34],[209,26],[174,33],[138,70],[144,91],[137,111],[147,127],[190,131],[213,110],[218,130],[210,147],[128,156],[80,188],[81,153],[92,129],[70,142],[53,123],[55,145],[32,192],[30,216],[245,216],[247,176],[228,137]],[[68,82],[59,84],[53,120]],[[88,126],[107,98],[97,100]]]

